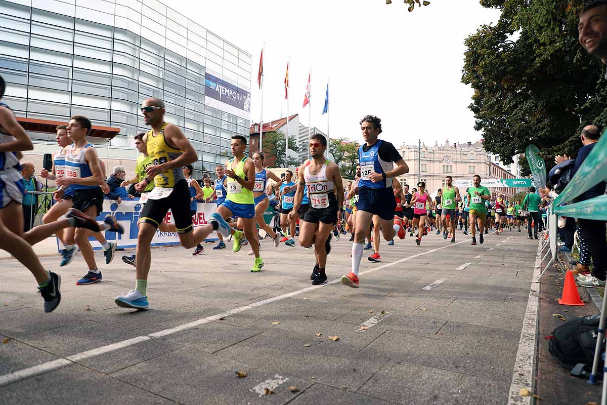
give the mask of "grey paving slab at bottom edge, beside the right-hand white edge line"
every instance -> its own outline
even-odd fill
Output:
[[[358,392],[407,405],[503,405],[509,388],[503,381],[392,360]]]

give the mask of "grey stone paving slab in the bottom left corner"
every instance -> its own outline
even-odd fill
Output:
[[[46,404],[173,403],[162,396],[76,364],[0,388],[0,402],[6,404],[31,405],[40,403],[41,398]]]

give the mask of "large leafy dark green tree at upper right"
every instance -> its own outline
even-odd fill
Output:
[[[503,163],[534,143],[549,170],[555,154],[577,154],[583,126],[607,124],[603,67],[577,41],[584,3],[481,0],[501,16],[466,39],[462,82],[484,148]]]

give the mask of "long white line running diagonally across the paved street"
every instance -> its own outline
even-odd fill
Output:
[[[402,263],[405,260],[415,259],[416,257],[424,256],[425,254],[433,253],[435,251],[451,248],[453,246],[459,245],[460,243],[466,243],[466,242],[470,242],[470,239],[463,240],[461,242],[452,243],[452,244],[446,245],[441,248],[431,249],[431,250],[428,250],[428,251],[425,251],[422,253],[413,254],[412,256],[403,257],[402,259],[398,259],[395,262],[386,263],[379,267],[373,267],[373,268],[370,268],[369,270],[361,271],[359,273],[359,275],[373,273],[373,271],[378,271],[378,270],[381,270],[382,268],[387,268],[387,267]],[[444,280],[442,280],[441,282],[443,282],[443,281]],[[53,370],[61,369],[61,367],[69,366],[70,364],[74,364],[75,362],[78,362],[78,361],[81,361],[81,360],[84,360],[87,358],[102,355],[104,353],[114,352],[115,350],[123,349],[124,347],[138,344],[140,342],[148,341],[149,339],[152,339],[152,338],[161,338],[162,336],[171,335],[172,333],[180,332],[182,330],[193,328],[198,325],[207,324],[208,322],[211,322],[211,321],[219,321],[222,318],[226,318],[227,316],[231,316],[231,315],[237,314],[239,312],[249,310],[251,308],[260,307],[265,304],[270,304],[271,302],[280,301],[281,299],[289,298],[289,297],[292,297],[292,296],[295,296],[298,294],[303,294],[303,293],[306,293],[307,291],[316,290],[316,288],[322,288],[322,287],[325,287],[325,285],[337,284],[339,282],[341,282],[341,279],[336,279],[336,280],[327,282],[323,285],[313,285],[311,287],[302,288],[301,290],[292,291],[290,293],[282,294],[282,295],[279,295],[279,296],[276,296],[273,298],[268,298],[268,299],[264,299],[262,301],[253,302],[252,304],[243,305],[242,307],[234,308],[232,310],[229,310],[229,311],[226,311],[223,313],[219,313],[217,315],[211,315],[206,318],[198,319],[197,321],[192,321],[192,322],[188,322],[187,324],[178,325],[174,328],[160,330],[158,332],[150,333],[149,335],[137,336],[135,338],[126,339],[124,341],[97,347],[96,349],[87,350],[86,352],[76,353],[75,355],[69,356],[64,359],[57,359],[54,361],[49,361],[46,363],[39,364],[38,366],[28,367],[27,369],[22,369],[22,370],[18,370],[16,372],[0,375],[0,387],[5,386],[6,384],[15,383],[16,381],[21,381],[22,379],[30,378],[35,375],[39,375],[42,373],[47,373],[47,372],[50,372]],[[438,283],[438,284],[440,284],[440,283]],[[430,287],[430,286],[428,286],[428,287]],[[425,287],[424,289],[426,289],[426,288],[427,287]]]

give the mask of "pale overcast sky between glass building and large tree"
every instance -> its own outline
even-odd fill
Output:
[[[409,13],[402,0],[173,0],[173,7],[253,55],[251,121],[259,122],[259,53],[265,42],[263,120],[287,114],[283,80],[290,57],[290,114],[300,114],[308,72],[311,124],[322,115],[330,79],[330,137],[361,140],[360,119],[382,120],[381,137],[400,146],[480,140],[460,82],[464,39],[499,12],[472,0],[432,0]]]

